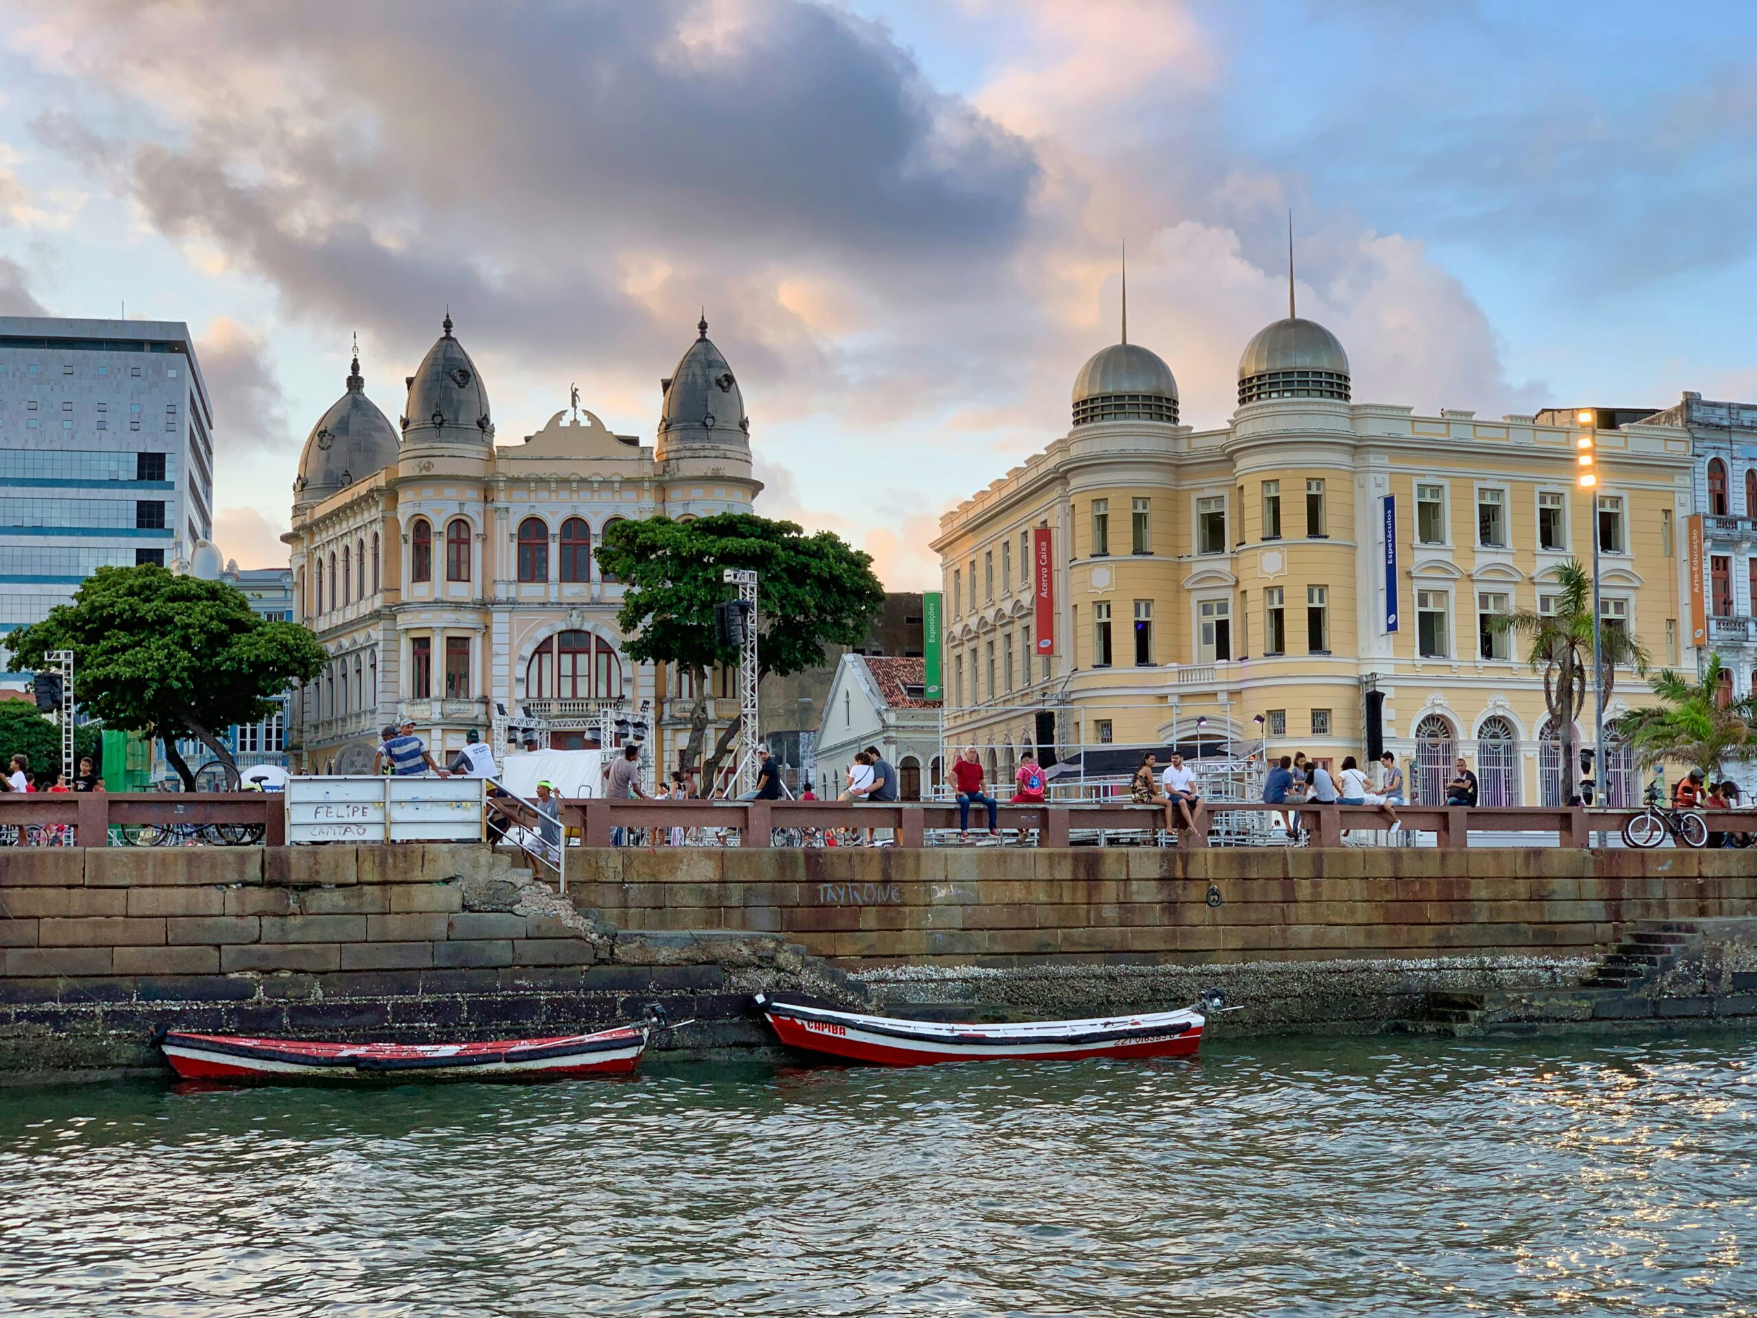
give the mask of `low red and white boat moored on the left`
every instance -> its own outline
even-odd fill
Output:
[[[170,1030],[160,1047],[186,1081],[546,1081],[625,1075],[640,1065],[650,1032],[643,1021],[488,1044],[318,1044]]]

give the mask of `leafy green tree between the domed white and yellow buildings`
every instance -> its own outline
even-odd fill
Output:
[[[713,631],[713,606],[729,597],[726,568],[757,573],[757,666],[798,673],[824,661],[826,645],[859,645],[884,608],[884,585],[871,555],[829,531],[805,534],[794,522],[750,513],[719,513],[694,522],[669,517],[615,522],[597,547],[597,562],[625,585],[617,624],[640,663],[675,664],[696,682],[683,763],[694,766],[708,729],[708,671],[736,668],[738,652]],[[705,782],[738,736],[733,719],[708,763]]]

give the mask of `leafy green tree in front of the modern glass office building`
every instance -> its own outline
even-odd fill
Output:
[[[295,622],[264,622],[225,582],[174,576],[151,564],[98,568],[74,603],[5,638],[14,668],[46,666],[49,650],[74,652],[74,694],[105,726],[149,733],[195,791],[176,740],[193,736],[237,782],[223,733],[274,712],[272,698],[309,682],[323,647]]]

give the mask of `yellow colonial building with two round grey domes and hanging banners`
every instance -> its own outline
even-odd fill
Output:
[[[1485,805],[1551,801],[1543,678],[1488,619],[1551,605],[1557,568],[1592,562],[1594,511],[1604,626],[1676,664],[1688,615],[1688,432],[1590,431],[1595,510],[1581,434],[1355,402],[1342,344],[1291,315],[1246,346],[1221,429],[1181,424],[1153,351],[1105,348],[1068,432],[942,518],[944,742],[996,768],[1052,742],[1114,773],[1174,745],[1365,763],[1376,731],[1413,800],[1464,754]],[[1606,717],[1646,698],[1618,673]],[[1632,789],[1613,745],[1611,798]]]

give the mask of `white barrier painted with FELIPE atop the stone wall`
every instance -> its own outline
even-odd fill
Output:
[[[481,842],[483,778],[295,777],[286,842]]]

